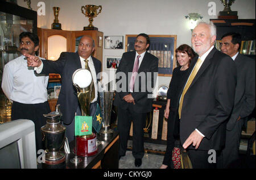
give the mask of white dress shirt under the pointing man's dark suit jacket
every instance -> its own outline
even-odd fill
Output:
[[[81,56],[80,57],[80,62],[81,62],[81,67],[82,69],[85,69],[85,59],[82,58]],[[97,76],[96,76],[96,70],[94,68],[94,64],[93,64],[93,60],[92,60],[92,57],[89,56],[88,57],[88,65],[89,65],[89,68],[90,68],[90,72],[92,73],[92,78],[93,78],[93,83],[94,83],[94,89],[95,89],[95,98],[93,99],[93,101],[91,101],[91,103],[93,102],[96,102],[97,101],[97,98],[98,98],[98,89],[97,89]],[[42,70],[43,70],[43,62],[42,64],[38,67],[38,68],[34,68],[34,70],[36,70],[36,73],[41,73]]]

